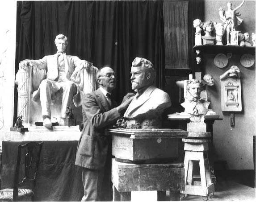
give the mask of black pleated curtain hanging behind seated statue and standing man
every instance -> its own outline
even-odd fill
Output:
[[[154,64],[156,86],[164,87],[163,1],[18,1],[16,72],[23,59],[55,54],[59,33],[68,37],[67,54],[116,71],[116,100],[131,91],[135,57]]]

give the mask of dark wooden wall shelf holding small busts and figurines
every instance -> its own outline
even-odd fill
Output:
[[[206,54],[233,53],[233,54],[252,54],[255,55],[255,46],[239,45],[196,45],[193,52],[201,50]]]

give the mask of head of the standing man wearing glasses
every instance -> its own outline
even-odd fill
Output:
[[[101,68],[97,72],[97,82],[99,86],[111,93],[116,87],[116,74],[114,70],[108,66]]]

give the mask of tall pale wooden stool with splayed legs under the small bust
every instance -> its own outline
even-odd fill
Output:
[[[208,160],[207,139],[182,139],[184,142],[185,191],[183,194],[205,196],[208,199],[214,192],[214,183],[211,181],[210,164]],[[206,155],[205,155],[206,154]],[[192,181],[193,161],[199,161],[201,186],[194,186]]]

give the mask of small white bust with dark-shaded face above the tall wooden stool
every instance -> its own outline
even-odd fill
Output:
[[[191,79],[187,83],[189,95],[181,106],[185,108],[185,114],[189,115],[205,115],[208,112],[210,102],[207,102],[200,97],[203,90],[203,84],[197,79]]]

